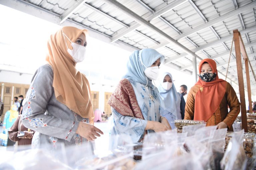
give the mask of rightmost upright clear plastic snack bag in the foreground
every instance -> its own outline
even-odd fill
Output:
[[[243,147],[243,138],[244,130],[233,133],[221,160],[221,168],[223,170],[244,170],[246,168],[247,157]]]

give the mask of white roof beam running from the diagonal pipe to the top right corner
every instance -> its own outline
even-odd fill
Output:
[[[175,37],[175,39],[176,40],[180,40],[182,38],[190,36],[190,35],[192,35],[194,33],[197,33],[197,32],[199,32],[199,31],[201,31],[203,29],[206,29],[206,28],[208,28],[210,26],[213,26],[214,24],[217,24],[217,23],[222,22],[222,21],[224,21],[224,20],[226,20],[228,18],[231,18],[231,17],[233,17],[235,15],[238,15],[238,14],[244,12],[244,11],[248,11],[251,8],[254,8],[254,7],[256,7],[256,1],[253,1],[253,2],[247,4],[247,5],[243,6],[243,7],[240,7],[240,8],[238,8],[236,10],[233,10],[233,11],[227,13],[227,14],[224,14],[224,15],[222,15],[220,17],[217,17],[217,18],[215,18],[215,19],[213,19],[213,20],[211,20],[211,21],[209,21],[209,22],[207,22],[205,24],[199,25],[196,28],[192,29],[191,31],[188,31],[186,33],[183,33],[183,34]]]

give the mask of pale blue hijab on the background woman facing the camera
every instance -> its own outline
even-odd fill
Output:
[[[169,90],[165,90],[162,87],[162,83],[166,75],[169,75],[172,80],[172,87]],[[173,83],[172,75],[170,73],[165,72],[160,76],[158,90],[159,90],[160,96],[164,100],[165,109],[168,112],[172,113],[176,117],[176,119],[181,119],[181,114],[180,114],[181,96],[176,91],[176,88]]]

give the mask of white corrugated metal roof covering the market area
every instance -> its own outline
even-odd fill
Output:
[[[77,3],[75,0],[19,0],[19,2],[35,5],[39,10],[43,9],[58,15],[63,15]],[[242,39],[248,55],[256,52],[256,45],[251,45],[256,42],[255,0],[236,0],[237,6],[231,0],[118,0],[118,2],[150,21],[150,24],[194,51],[199,57],[214,58],[219,72],[223,74],[227,69],[226,63],[229,60],[233,30],[243,31]],[[163,11],[168,5],[170,5],[169,11],[148,19],[148,16]],[[246,8],[240,10],[242,7]],[[229,15],[235,11],[240,12]],[[222,16],[226,17],[220,20]],[[177,66],[178,70],[180,68],[193,72],[191,55],[186,54],[181,47],[168,42],[168,39],[159,36],[152,29],[136,23],[135,19],[126,16],[124,12],[104,0],[85,1],[68,18],[80,26],[84,25],[97,33],[102,33],[110,39],[110,42],[122,42],[134,49],[154,47],[166,56],[166,61],[171,63],[171,66]],[[235,56],[234,45],[232,54]],[[249,59],[255,66],[256,57],[249,55]],[[197,59],[197,61],[200,60]],[[228,77],[237,83],[234,61],[234,57],[231,56]],[[251,86],[256,86],[253,78],[251,82]]]

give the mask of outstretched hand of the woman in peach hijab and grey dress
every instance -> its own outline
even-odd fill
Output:
[[[103,134],[103,132],[100,129],[85,122],[79,122],[76,133],[86,138],[87,140],[94,140],[97,138],[96,136],[100,136],[100,134]]]

